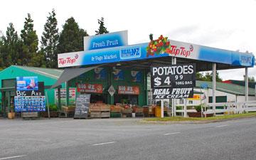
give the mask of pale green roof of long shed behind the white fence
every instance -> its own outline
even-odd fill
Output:
[[[201,87],[202,84],[207,84],[209,88],[213,88],[213,82],[196,80],[196,87]],[[241,85],[229,84],[225,82],[216,82],[216,90],[228,92],[233,95],[245,95],[245,87]],[[249,87],[248,95],[255,95],[255,89]]]

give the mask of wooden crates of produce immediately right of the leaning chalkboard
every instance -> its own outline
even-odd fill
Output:
[[[90,103],[89,112],[91,118],[110,118],[110,105]]]

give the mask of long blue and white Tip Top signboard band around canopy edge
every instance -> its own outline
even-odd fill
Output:
[[[102,45],[99,44],[97,47],[93,47],[93,42],[90,42],[90,45],[86,46],[85,51],[79,53],[58,54],[58,67],[118,63],[129,60],[145,60],[169,56],[243,67],[253,67],[255,65],[255,57],[251,53],[239,53],[179,41],[169,40],[168,48],[164,48],[164,50],[160,51],[157,51],[157,48],[150,48],[150,43],[118,47],[107,46],[107,43],[104,42],[105,40],[103,41],[101,39],[100,41]]]

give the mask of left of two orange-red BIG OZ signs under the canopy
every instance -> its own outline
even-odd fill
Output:
[[[78,92],[93,92],[102,93],[103,87],[101,84],[78,84]]]

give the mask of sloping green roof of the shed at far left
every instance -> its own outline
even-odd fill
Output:
[[[46,77],[58,79],[60,75],[63,73],[63,70],[53,69],[53,68],[36,68],[36,67],[27,67],[21,65],[13,65],[16,68],[21,68],[23,70],[28,70],[33,73],[38,73],[41,75],[45,75]]]

